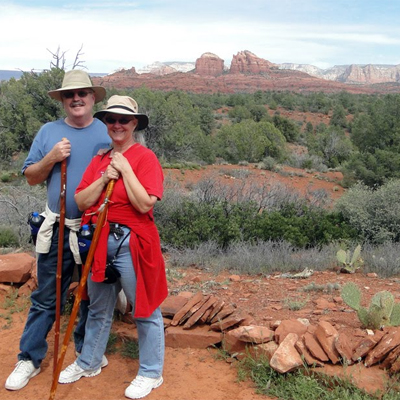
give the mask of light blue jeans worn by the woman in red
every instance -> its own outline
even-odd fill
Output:
[[[129,229],[123,228],[125,234]],[[113,257],[121,239],[113,235],[108,238],[108,255]],[[112,284],[93,282],[88,279],[90,298],[89,315],[86,322],[85,342],[77,364],[83,369],[100,367],[102,356],[106,350],[111,330],[115,304],[121,289],[127,300],[135,309],[136,275],[127,238],[114,262],[121,274],[117,282]],[[164,366],[164,322],[158,307],[148,318],[135,319],[139,337],[139,372],[138,375],[148,378],[158,378],[162,375]]]

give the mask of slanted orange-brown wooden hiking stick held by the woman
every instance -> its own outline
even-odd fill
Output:
[[[75,319],[76,319],[76,316],[78,315],[78,309],[79,309],[79,305],[81,303],[82,293],[83,293],[83,290],[86,285],[90,267],[92,265],[94,252],[96,250],[97,243],[98,243],[99,237],[100,237],[100,233],[101,233],[101,230],[103,228],[104,222],[107,217],[108,203],[109,203],[111,194],[114,190],[114,184],[115,184],[114,179],[112,179],[110,182],[108,182],[108,185],[106,188],[106,195],[105,195],[103,204],[99,208],[99,216],[98,216],[97,222],[96,222],[96,229],[94,230],[92,243],[90,244],[86,262],[85,262],[85,265],[83,266],[82,276],[81,276],[81,279],[80,279],[79,285],[78,285],[78,291],[75,295],[75,301],[74,301],[74,305],[72,307],[71,316],[69,317],[69,322],[68,322],[67,330],[65,332],[64,341],[61,346],[60,357],[57,361],[57,367],[55,368],[54,373],[53,373],[53,383],[51,385],[49,400],[54,400],[54,397],[56,395],[58,378],[60,376],[61,367],[64,362],[65,353],[67,352],[67,347],[68,347],[69,339],[72,334],[72,330],[74,328]]]

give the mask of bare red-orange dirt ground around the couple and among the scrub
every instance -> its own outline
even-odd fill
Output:
[[[219,176],[224,182],[233,180],[224,171],[229,169],[248,169],[252,179],[260,179],[266,183],[279,180],[290,187],[305,193],[307,186],[312,189],[323,188],[332,197],[333,201],[342,193],[343,189],[338,182],[341,176],[338,173],[321,174],[323,179],[316,179],[315,174],[307,174],[303,177],[281,176],[269,171],[261,171],[252,166],[213,166],[199,171],[166,170],[169,179],[177,180],[186,185],[196,182],[205,174]],[[222,172],[221,172],[222,169]],[[335,189],[334,189],[335,188]],[[339,292],[304,292],[299,289],[314,282],[317,285],[327,283],[344,284],[351,280],[363,288],[365,301],[380,290],[390,290],[396,300],[400,299],[400,286],[397,279],[379,279],[368,277],[362,272],[354,275],[339,274],[336,271],[315,272],[308,279],[288,279],[278,275],[264,276],[240,276],[238,281],[230,280],[230,273],[222,272],[218,276],[196,268],[178,271],[179,279],[169,283],[170,291],[202,290],[212,292],[230,303],[234,303],[238,309],[249,313],[257,324],[269,325],[275,320],[286,318],[308,318],[312,323],[320,319],[326,319],[336,329],[344,330],[351,335],[357,335],[360,324],[354,312],[349,312],[348,307],[338,301]],[[217,284],[207,285],[214,281]],[[210,289],[211,287],[211,289]],[[315,301],[319,298],[334,303],[335,306],[327,310],[318,310]],[[5,307],[5,293],[0,290],[0,358],[2,368],[0,371],[0,383],[4,385],[8,374],[12,371],[19,351],[19,338],[24,327],[27,309],[16,312],[10,316]],[[299,311],[291,311],[287,307],[287,301],[304,301],[305,304]],[[21,300],[19,300],[21,301]],[[336,301],[336,303],[335,303]],[[8,323],[8,317],[12,322]],[[116,324],[122,324],[118,321]],[[43,400],[49,397],[52,382],[52,346],[53,332],[49,335],[49,354],[42,364],[42,372],[33,378],[29,384],[18,392],[11,392],[0,388],[1,400]],[[216,357],[217,350],[197,349],[166,349],[164,384],[154,390],[147,398],[149,400],[269,400],[268,397],[256,394],[251,382],[238,382],[235,363],[227,363]],[[109,366],[94,378],[82,378],[78,382],[68,385],[59,385],[56,393],[58,400],[119,400],[124,399],[124,390],[135,377],[138,362],[123,358],[120,354],[109,354]],[[73,346],[70,345],[64,365],[67,366],[74,359]],[[359,382],[361,387],[368,391],[383,388],[387,376],[376,367],[363,368],[361,364],[344,370],[342,367],[327,368],[334,374],[345,371],[348,376]]]

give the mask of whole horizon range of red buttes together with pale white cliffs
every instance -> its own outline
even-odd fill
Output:
[[[179,72],[181,65],[188,72]],[[172,63],[155,63],[140,74],[132,67],[107,76],[93,77],[93,82],[117,89],[146,86],[152,90],[194,93],[253,93],[257,90],[400,92],[400,66],[390,72],[373,66],[336,66],[330,70],[319,70],[302,64],[273,64],[245,50],[233,56],[229,69],[225,67],[224,60],[213,53],[204,53],[194,65],[174,63],[174,67]],[[393,79],[392,83],[387,83],[386,79]]]

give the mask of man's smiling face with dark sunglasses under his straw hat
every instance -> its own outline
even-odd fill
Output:
[[[93,90],[74,89],[63,91],[61,97],[64,110],[71,120],[92,117],[95,102]]]

